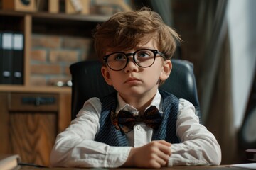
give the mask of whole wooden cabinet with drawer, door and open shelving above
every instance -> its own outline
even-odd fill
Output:
[[[49,166],[55,137],[70,124],[71,88],[31,85],[32,34],[90,37],[107,18],[0,11],[0,31],[24,35],[23,84],[0,84],[0,154],[20,154],[22,162]]]

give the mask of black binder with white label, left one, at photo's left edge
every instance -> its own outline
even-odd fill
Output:
[[[12,33],[1,33],[1,73],[0,84],[12,84]]]

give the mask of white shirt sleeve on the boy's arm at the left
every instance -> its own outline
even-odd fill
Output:
[[[94,141],[100,129],[99,98],[86,101],[70,126],[61,132],[50,154],[51,166],[118,167],[126,161],[132,147],[111,147]]]

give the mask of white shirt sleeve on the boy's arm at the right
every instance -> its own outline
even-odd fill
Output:
[[[176,133],[181,143],[171,145],[168,166],[219,165],[221,149],[214,135],[199,123],[194,106],[180,99]]]

